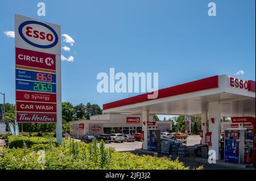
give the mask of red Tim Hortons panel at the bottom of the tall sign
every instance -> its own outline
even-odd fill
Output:
[[[33,112],[17,112],[17,122],[26,123],[56,123],[56,113],[33,113]]]

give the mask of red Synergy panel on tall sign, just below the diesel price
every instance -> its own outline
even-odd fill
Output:
[[[43,92],[16,91],[16,100],[56,103],[56,94]]]

